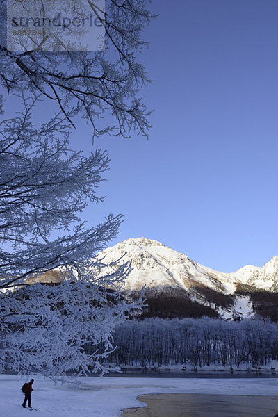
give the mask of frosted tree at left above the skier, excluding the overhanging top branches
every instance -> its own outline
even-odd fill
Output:
[[[130,265],[94,257],[121,216],[89,229],[79,219],[88,202],[102,200],[96,190],[108,155],[72,152],[65,117],[37,127],[37,99],[22,99],[24,111],[1,122],[0,370],[104,370],[99,359],[113,350],[113,327],[135,307],[118,291]],[[58,285],[38,283],[53,270]],[[86,354],[85,345],[95,350]]]

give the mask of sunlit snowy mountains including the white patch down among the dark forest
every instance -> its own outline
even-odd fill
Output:
[[[161,304],[167,301],[167,296],[168,302],[172,297],[174,304],[184,297],[187,302],[212,309],[222,318],[254,316],[258,303],[255,306],[250,295],[238,293],[238,288],[278,291],[278,256],[262,268],[247,265],[230,274],[200,265],[185,254],[147,238],[124,240],[101,252],[101,258],[103,256],[107,262],[131,261],[133,270],[122,286],[125,293],[136,293],[145,286],[147,297],[157,300],[160,297]],[[187,306],[187,311],[195,309],[195,304]],[[204,311],[206,313],[209,311]]]

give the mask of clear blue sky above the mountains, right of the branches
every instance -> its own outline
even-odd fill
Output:
[[[224,272],[278,254],[278,1],[154,0],[140,60],[149,141],[101,138],[106,202],[84,213]],[[72,136],[90,149],[90,126]]]

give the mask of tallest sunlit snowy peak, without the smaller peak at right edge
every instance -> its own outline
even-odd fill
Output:
[[[191,288],[206,286],[219,293],[231,294],[239,279],[224,272],[206,268],[163,243],[146,238],[131,238],[101,252],[104,261],[120,259],[131,261],[133,270],[123,286],[126,290],[139,290],[142,286],[158,293],[163,288]]]

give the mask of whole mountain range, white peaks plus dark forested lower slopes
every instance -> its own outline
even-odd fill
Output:
[[[145,287],[142,317],[208,316],[225,320],[270,318],[278,321],[278,256],[263,267],[246,265],[233,273],[213,270],[156,240],[129,238],[99,252],[104,263],[130,262],[122,296],[135,300]],[[110,272],[101,270],[100,273]],[[61,281],[59,270],[30,280]]]

